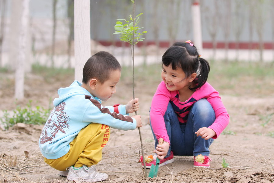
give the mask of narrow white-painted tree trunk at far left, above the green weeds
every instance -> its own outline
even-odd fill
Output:
[[[22,100],[24,98],[24,66],[26,62],[26,50],[27,50],[27,34],[29,24],[29,0],[22,0],[21,4],[22,16],[19,20],[19,52],[16,59],[16,72],[15,72],[15,98]]]

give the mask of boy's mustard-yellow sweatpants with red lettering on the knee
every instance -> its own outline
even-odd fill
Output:
[[[51,167],[64,171],[67,167],[88,167],[102,160],[102,150],[110,137],[110,128],[104,124],[91,123],[83,128],[70,142],[68,153],[58,159],[47,159]]]

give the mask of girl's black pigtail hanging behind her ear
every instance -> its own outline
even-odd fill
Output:
[[[195,80],[195,83],[197,84],[197,86],[194,88],[190,88],[191,90],[200,89],[202,87],[202,85],[204,85],[206,83],[206,80],[208,78],[208,74],[209,74],[209,70],[210,70],[208,61],[201,57],[199,57],[199,61],[200,61],[201,65],[199,66],[197,77]]]

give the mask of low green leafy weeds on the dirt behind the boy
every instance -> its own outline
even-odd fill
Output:
[[[8,130],[9,127],[16,123],[45,124],[50,114],[50,109],[44,109],[41,106],[33,108],[31,102],[30,100],[25,108],[17,106],[13,111],[3,110],[4,115],[0,118],[0,121],[5,125],[5,130]]]

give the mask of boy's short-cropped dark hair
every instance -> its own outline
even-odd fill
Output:
[[[87,84],[90,79],[95,78],[100,83],[104,83],[111,77],[110,72],[114,70],[121,70],[117,59],[109,52],[97,52],[86,61],[82,82]]]

